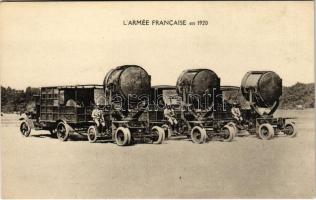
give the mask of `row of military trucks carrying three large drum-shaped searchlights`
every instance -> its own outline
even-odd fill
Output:
[[[119,146],[161,144],[179,135],[193,143],[229,142],[241,129],[264,140],[296,136],[293,118],[273,116],[282,95],[282,79],[275,72],[250,71],[241,87],[234,87],[250,105],[240,109],[239,118],[222,88],[218,75],[206,68],[183,71],[175,86],[151,86],[144,68],[119,66],[102,85],[40,88],[35,111],[20,119],[20,132],[28,137],[32,129],[48,130],[61,141],[80,134],[91,143],[105,139]]]

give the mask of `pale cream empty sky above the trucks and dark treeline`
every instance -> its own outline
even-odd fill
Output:
[[[25,89],[102,84],[125,64],[152,85],[175,85],[209,68],[239,86],[251,70],[272,70],[286,86],[314,82],[314,7],[305,2],[1,3],[0,81]],[[127,26],[124,20],[206,20],[205,26]]]

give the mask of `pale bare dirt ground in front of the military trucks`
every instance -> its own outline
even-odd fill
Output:
[[[297,116],[296,138],[162,145],[61,142],[20,135],[1,117],[2,198],[310,198],[315,196],[314,110]]]

